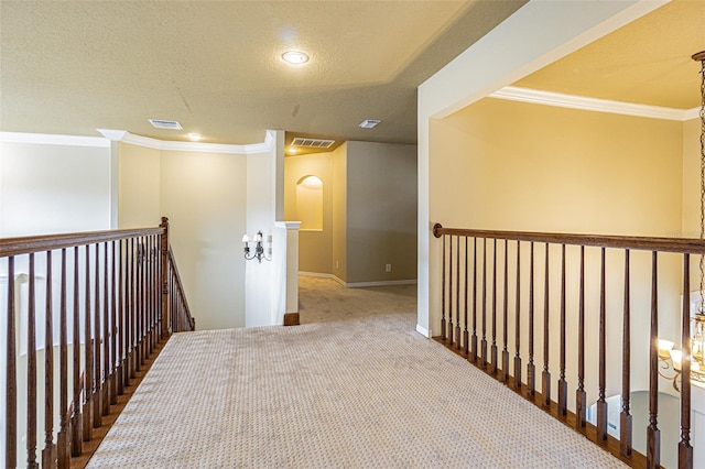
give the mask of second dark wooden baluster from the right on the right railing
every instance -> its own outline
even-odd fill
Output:
[[[658,252],[651,253],[651,340],[649,341],[649,427],[647,429],[647,467],[661,467],[659,429],[659,270]]]

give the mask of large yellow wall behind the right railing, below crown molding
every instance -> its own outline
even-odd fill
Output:
[[[432,121],[430,138],[431,220],[446,227],[636,236],[674,236],[682,230],[681,122],[484,99],[446,119]],[[433,257],[440,255],[440,241],[436,241],[435,249],[432,249]],[[544,304],[544,250],[542,246],[535,249],[535,307],[541,314]],[[551,284],[560,285],[560,249],[553,249]],[[498,250],[501,269],[503,244],[500,243]],[[577,250],[568,249],[567,309],[568,330],[573,331],[573,337],[577,310]],[[589,315],[586,334],[588,350],[596,350],[599,250],[588,250],[586,257],[587,266],[593,272],[586,280],[590,298],[586,305]],[[509,258],[509,277],[513,279],[516,244],[510,244]],[[492,259],[492,243],[488,246],[488,259]],[[646,385],[649,262],[648,253],[632,253],[634,389]],[[525,279],[527,244],[522,247],[522,265]],[[622,257],[608,251],[608,353],[612,358],[608,363],[609,377],[620,373],[622,277]],[[662,336],[669,337],[677,330],[680,259],[660,258],[659,281],[668,292],[659,298],[660,327]],[[499,292],[502,285],[500,270]],[[510,285],[513,285],[513,280]],[[525,315],[525,283],[522,288]],[[488,284],[490,291],[491,283]],[[552,288],[550,305],[556,319],[558,295],[558,288]],[[512,325],[513,294],[510,294],[509,305],[509,324]],[[434,310],[438,312],[438,308]],[[438,314],[431,317],[434,331],[440,330],[440,319]],[[501,317],[498,327],[501,330]],[[557,331],[557,321],[551,321],[550,328]],[[551,337],[551,367],[555,374],[558,335]],[[536,340],[542,343],[541,327]],[[498,341],[501,350],[501,334]],[[511,343],[510,349],[513,347]],[[525,345],[524,338],[524,360]],[[536,363],[542,363],[542,359],[539,349]],[[589,353],[588,373],[595,370],[595,360],[596,353]],[[567,379],[573,386],[576,371],[572,363],[575,362],[575,351],[570,350]],[[595,382],[593,380],[587,389],[590,402],[596,396]],[[555,388],[555,383],[553,385]],[[618,380],[610,380],[607,394],[617,393],[619,385]],[[553,391],[556,392],[555,389]]]

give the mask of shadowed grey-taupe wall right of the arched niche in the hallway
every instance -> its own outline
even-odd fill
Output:
[[[347,142],[347,283],[416,279],[416,205],[415,145]]]

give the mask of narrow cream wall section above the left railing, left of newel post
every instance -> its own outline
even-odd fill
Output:
[[[119,144],[119,228],[155,227],[161,222],[161,151]]]

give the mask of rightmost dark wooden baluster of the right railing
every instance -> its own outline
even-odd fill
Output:
[[[704,65],[705,67],[705,65]],[[683,329],[681,343],[683,360],[681,360],[681,441],[679,443],[679,469],[693,468],[693,447],[691,446],[691,255],[683,254]]]

